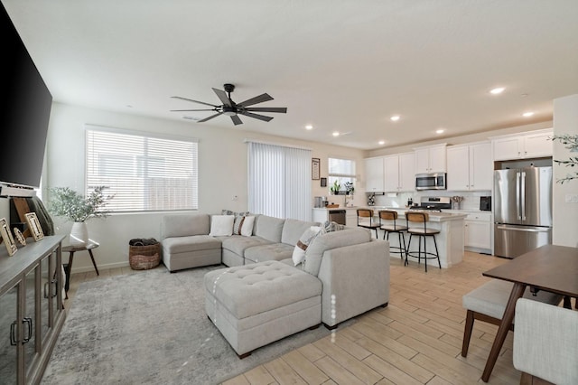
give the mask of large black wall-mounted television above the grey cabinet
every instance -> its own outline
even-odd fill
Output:
[[[39,187],[52,96],[0,7],[0,183]]]

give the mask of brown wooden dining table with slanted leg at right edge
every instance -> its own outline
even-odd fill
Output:
[[[578,297],[578,248],[545,245],[482,274],[514,283],[481,376],[481,380],[488,382],[499,351],[514,321],[516,301],[524,294],[527,286],[530,286],[532,293],[545,290],[563,295],[564,298]]]

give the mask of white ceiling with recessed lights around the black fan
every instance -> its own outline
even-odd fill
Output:
[[[220,104],[230,82],[288,108],[191,127],[375,149],[550,120],[578,93],[576,0],[2,3],[56,101],[182,120],[169,110],[203,106],[171,96]]]

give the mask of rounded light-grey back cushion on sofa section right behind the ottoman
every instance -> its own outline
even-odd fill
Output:
[[[305,261],[303,269],[317,277],[319,268],[322,266],[322,257],[325,250],[342,248],[343,246],[358,245],[369,242],[371,234],[365,229],[346,229],[331,231],[315,237],[305,251]],[[355,258],[355,256],[351,256]]]

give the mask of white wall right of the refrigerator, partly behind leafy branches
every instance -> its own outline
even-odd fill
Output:
[[[554,134],[578,135],[578,94],[554,100]],[[559,141],[554,142],[555,160],[568,160],[570,153]],[[554,163],[555,181],[564,178],[569,172],[578,170]],[[578,195],[578,179],[553,186],[553,229],[552,241],[555,245],[578,247],[578,203],[566,203],[566,194]]]

